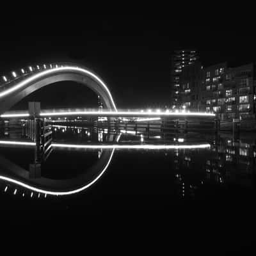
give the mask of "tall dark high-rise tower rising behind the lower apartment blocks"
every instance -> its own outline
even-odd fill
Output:
[[[171,88],[172,106],[177,108],[181,104],[180,100],[180,74],[184,67],[192,65],[198,60],[198,52],[194,49],[182,49],[175,51],[172,55]]]

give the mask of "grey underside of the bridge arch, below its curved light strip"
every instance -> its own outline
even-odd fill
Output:
[[[36,79],[36,81],[29,82],[26,84],[26,86],[22,86],[22,88],[15,90],[15,92],[5,95],[3,99],[0,100],[0,114],[8,111],[17,102],[24,99],[36,90],[39,90],[48,84],[57,83],[60,81],[74,81],[88,86],[88,88],[93,90],[93,92],[100,95],[104,108],[108,108],[113,111],[116,110],[111,96],[109,97],[109,92],[106,90],[106,88],[104,88],[104,86],[102,86],[102,84],[99,83],[99,81],[95,81],[93,77],[90,77],[89,75],[86,76],[85,74],[79,72],[76,73],[74,71],[56,71],[56,73],[40,77],[39,79]],[[72,90],[72,87],[70,87],[70,90]]]

